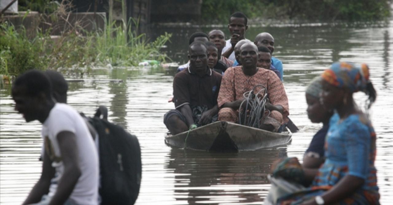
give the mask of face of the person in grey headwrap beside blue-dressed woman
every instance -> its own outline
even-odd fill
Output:
[[[329,112],[320,103],[320,98],[316,98],[310,94],[306,93],[307,102],[307,116],[313,123],[325,122],[331,117],[331,112]]]

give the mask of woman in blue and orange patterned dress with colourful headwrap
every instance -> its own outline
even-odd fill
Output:
[[[310,188],[279,199],[277,204],[379,204],[376,168],[376,135],[366,114],[353,100],[363,91],[369,106],[376,92],[369,81],[369,68],[362,64],[334,63],[322,74],[321,103],[336,113],[330,120],[325,141],[326,161],[318,169],[304,169]]]

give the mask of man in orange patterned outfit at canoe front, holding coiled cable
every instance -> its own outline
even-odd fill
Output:
[[[263,115],[261,129],[280,132],[282,125],[288,122],[288,98],[283,84],[277,75],[267,69],[258,68],[258,48],[252,42],[245,43],[240,48],[242,66],[228,68],[222,77],[219,96],[217,99],[220,111],[219,120],[239,123],[239,107],[245,99],[243,94],[252,90],[256,85],[267,89],[268,100]],[[257,87],[255,93],[263,88]]]

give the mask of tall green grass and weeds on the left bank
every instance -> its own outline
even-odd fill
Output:
[[[67,10],[65,6],[59,4],[54,13],[42,19],[64,20],[61,17]],[[168,59],[160,48],[169,41],[171,34],[165,33],[150,42],[144,33],[137,33],[138,22],[132,19],[128,24],[106,23],[105,30],[96,31],[84,30],[79,22],[71,26],[66,23],[67,29],[56,38],[51,37],[51,29],[37,29],[36,34],[31,35],[23,26],[16,29],[7,22],[0,24],[0,75],[14,77],[33,68],[65,68],[79,73],[79,68],[89,71],[92,66],[108,63],[112,66],[137,66],[143,59]]]

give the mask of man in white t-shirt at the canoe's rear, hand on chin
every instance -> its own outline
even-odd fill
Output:
[[[247,26],[247,17],[244,13],[235,12],[229,18],[228,29],[231,35],[231,38],[226,41],[225,47],[222,49],[222,54],[224,57],[227,57],[231,61],[235,61],[235,52],[233,49],[235,45],[240,40],[246,39],[244,34],[246,33],[248,26]]]

